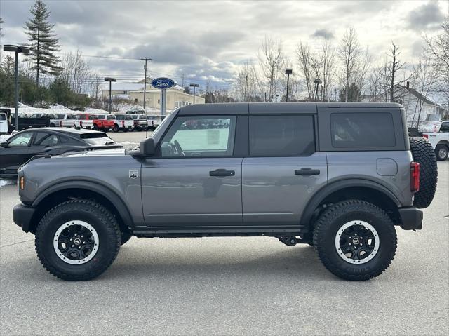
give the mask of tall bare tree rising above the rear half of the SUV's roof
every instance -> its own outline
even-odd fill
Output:
[[[359,58],[361,55],[360,43],[354,27],[349,27],[344,33],[340,46],[337,48],[337,54],[342,62],[342,83],[345,91],[344,101],[348,101],[348,88],[354,83],[356,72],[359,67]]]

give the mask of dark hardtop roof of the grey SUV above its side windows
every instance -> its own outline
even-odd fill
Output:
[[[229,102],[195,104],[180,108],[180,115],[192,114],[316,114],[318,109],[401,108],[392,102]]]

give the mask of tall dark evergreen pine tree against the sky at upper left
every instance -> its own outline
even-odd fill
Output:
[[[53,33],[53,27],[48,22],[50,11],[42,0],[36,0],[34,6],[29,8],[32,18],[25,23],[29,46],[32,48],[33,69],[36,70],[36,84],[39,86],[39,74],[58,75],[61,68],[58,67],[59,39]]]

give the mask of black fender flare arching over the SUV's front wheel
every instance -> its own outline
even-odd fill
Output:
[[[36,207],[41,203],[43,199],[47,196],[64,189],[85,189],[88,191],[93,191],[101,196],[105,197],[112,205],[116,208],[119,213],[121,219],[123,220],[123,224],[128,227],[133,227],[133,220],[131,218],[130,212],[125,205],[125,202],[121,197],[116,194],[115,191],[107,187],[105,184],[100,184],[98,182],[92,182],[87,180],[70,180],[65,182],[60,182],[58,184],[52,184],[47,187],[43,191],[39,193],[39,196],[34,199],[32,202],[32,206]]]

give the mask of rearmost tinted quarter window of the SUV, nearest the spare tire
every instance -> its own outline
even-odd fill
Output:
[[[333,113],[333,147],[394,147],[393,117],[389,113]]]

